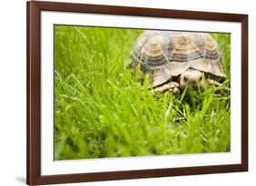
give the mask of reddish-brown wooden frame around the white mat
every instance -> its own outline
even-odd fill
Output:
[[[27,184],[37,185],[80,181],[109,181],[231,171],[248,171],[248,15],[38,1],[27,2],[26,10]],[[94,13],[103,15],[138,15],[148,17],[167,17],[241,23],[241,164],[42,176],[40,174],[40,12],[43,10]]]

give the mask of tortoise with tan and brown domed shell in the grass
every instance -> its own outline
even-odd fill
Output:
[[[220,46],[206,33],[146,30],[138,37],[132,66],[148,74],[160,93],[203,88],[202,73],[213,84],[218,77],[225,78]]]

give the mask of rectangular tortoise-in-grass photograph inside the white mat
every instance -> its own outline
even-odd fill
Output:
[[[55,161],[230,152],[230,33],[53,32]]]

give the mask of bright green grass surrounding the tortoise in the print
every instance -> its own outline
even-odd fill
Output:
[[[55,26],[56,160],[230,151],[230,34],[223,85],[171,96],[127,68],[140,33]]]

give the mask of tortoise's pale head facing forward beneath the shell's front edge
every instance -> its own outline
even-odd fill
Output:
[[[203,88],[202,73],[198,70],[189,69],[180,74],[179,86],[181,88]]]

